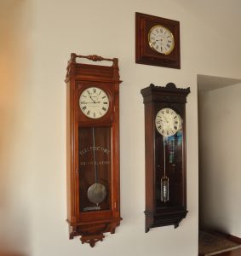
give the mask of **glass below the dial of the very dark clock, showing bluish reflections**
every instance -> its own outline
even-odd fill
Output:
[[[183,132],[163,137],[156,132],[156,206],[181,207],[183,204]]]

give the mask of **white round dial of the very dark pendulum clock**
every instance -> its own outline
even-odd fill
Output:
[[[170,137],[181,129],[181,116],[171,108],[162,108],[156,115],[155,124],[162,136]]]

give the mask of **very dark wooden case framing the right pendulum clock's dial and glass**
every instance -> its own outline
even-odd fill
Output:
[[[141,90],[145,104],[145,150],[146,150],[146,232],[150,228],[175,225],[178,227],[181,220],[186,217],[186,96],[190,88],[179,89],[175,84],[169,83],[165,87],[151,84]],[[160,173],[160,162],[163,162],[163,144],[158,141],[160,134],[155,126],[155,118],[162,108],[172,108],[181,115],[182,130],[182,160],[175,166],[175,179],[171,191],[171,201],[160,204],[158,198],[159,182],[163,174]],[[171,178],[170,178],[171,180]]]

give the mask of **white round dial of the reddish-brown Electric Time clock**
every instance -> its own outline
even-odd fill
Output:
[[[110,101],[104,90],[98,87],[89,87],[83,90],[79,97],[79,107],[83,114],[90,119],[100,119],[107,113]]]

